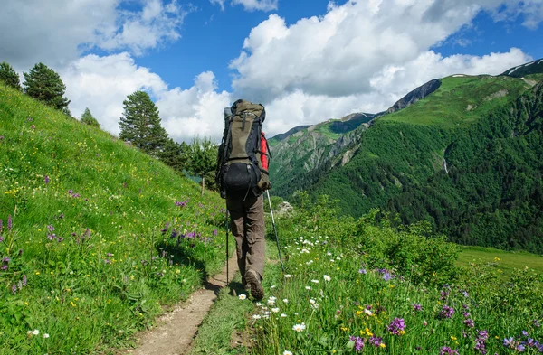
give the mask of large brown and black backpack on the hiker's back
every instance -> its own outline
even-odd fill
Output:
[[[226,195],[246,197],[249,192],[259,196],[271,189],[267,166],[271,155],[262,133],[265,118],[266,111],[262,105],[243,99],[235,101],[232,107],[224,108],[224,133],[216,174],[223,198]]]

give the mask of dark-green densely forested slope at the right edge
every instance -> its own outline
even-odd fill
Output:
[[[462,131],[447,171],[387,203],[405,223],[431,220],[462,244],[543,254],[543,81]]]

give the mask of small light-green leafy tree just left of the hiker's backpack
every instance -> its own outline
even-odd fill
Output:
[[[218,145],[209,138],[195,137],[189,148],[187,170],[202,179],[202,194],[204,194],[205,175],[215,171]]]

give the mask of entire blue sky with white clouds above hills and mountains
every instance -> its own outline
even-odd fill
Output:
[[[543,58],[542,20],[543,0],[7,0],[0,61],[57,70],[72,114],[114,135],[138,89],[176,141],[220,139],[237,98],[275,135]]]

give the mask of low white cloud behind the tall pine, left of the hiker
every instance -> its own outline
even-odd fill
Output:
[[[195,135],[219,139],[223,109],[229,107],[230,94],[218,92],[214,73],[203,72],[190,89],[169,89],[166,82],[148,68],[138,66],[127,52],[87,55],[60,72],[71,99],[71,113],[81,117],[85,107],[104,130],[119,135],[122,102],[136,90],[155,98],[162,126],[176,141],[190,141]]]

